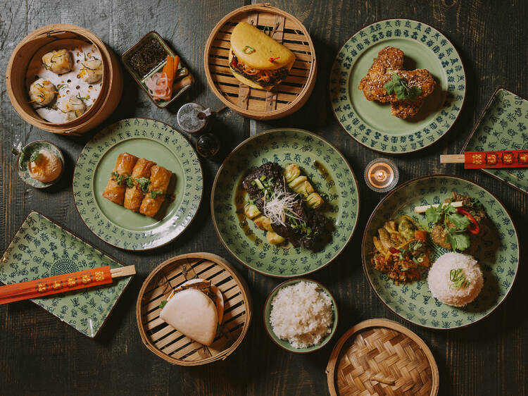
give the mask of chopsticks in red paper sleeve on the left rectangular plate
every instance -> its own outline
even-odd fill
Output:
[[[0,304],[106,285],[107,283],[112,283],[115,278],[134,275],[134,273],[136,273],[134,266],[112,269],[110,266],[104,266],[49,276],[48,278],[28,280],[27,282],[13,283],[12,285],[0,287]]]

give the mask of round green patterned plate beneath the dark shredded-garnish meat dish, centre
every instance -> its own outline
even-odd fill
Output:
[[[320,252],[270,245],[265,233],[246,221],[241,180],[246,170],[268,161],[297,163],[315,190],[328,195],[324,214],[332,218],[335,230]],[[358,183],[344,156],[322,137],[299,129],[268,130],[239,144],[222,163],[211,194],[213,225],[225,247],[242,264],[277,277],[301,276],[329,264],[351,240],[358,211]]]

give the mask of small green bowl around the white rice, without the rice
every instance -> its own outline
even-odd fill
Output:
[[[279,292],[279,290],[281,290],[283,287],[286,287],[289,285],[295,285],[296,283],[303,282],[303,281],[317,284],[323,292],[325,292],[327,295],[330,296],[330,298],[332,298],[332,308],[334,309],[334,323],[332,324],[332,330],[330,330],[329,335],[323,338],[320,344],[312,345],[311,347],[308,347],[308,348],[295,348],[295,347],[292,347],[288,341],[281,340],[280,338],[277,337],[277,335],[275,335],[275,333],[273,333],[273,328],[270,322],[271,302],[272,302],[273,297],[275,297],[275,295],[277,295],[277,292]],[[332,337],[334,336],[334,333],[336,332],[337,321],[339,319],[339,315],[337,313],[336,300],[334,299],[334,296],[332,296],[332,293],[329,292],[329,290],[325,286],[321,285],[319,282],[313,279],[295,278],[295,279],[286,280],[285,282],[275,287],[275,289],[273,289],[272,292],[270,292],[270,295],[268,295],[268,299],[266,299],[266,302],[264,304],[263,318],[264,318],[265,329],[268,332],[268,335],[270,336],[272,341],[275,342],[275,344],[279,345],[279,347],[281,347],[282,349],[286,349],[288,352],[304,354],[304,353],[314,352],[318,349],[321,349],[325,345],[327,345],[329,340],[332,339]]]

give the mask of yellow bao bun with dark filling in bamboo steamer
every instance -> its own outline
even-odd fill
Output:
[[[231,34],[229,62],[239,81],[269,91],[287,77],[295,55],[253,25],[241,22]]]

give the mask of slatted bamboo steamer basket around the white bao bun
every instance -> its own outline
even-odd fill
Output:
[[[159,317],[159,304],[172,289],[193,278],[210,280],[224,297],[220,332],[209,347],[187,338]],[[180,366],[224,360],[244,339],[251,315],[251,295],[244,279],[225,259],[210,253],[182,254],[163,261],[144,281],[136,304],[137,327],[144,345]]]

